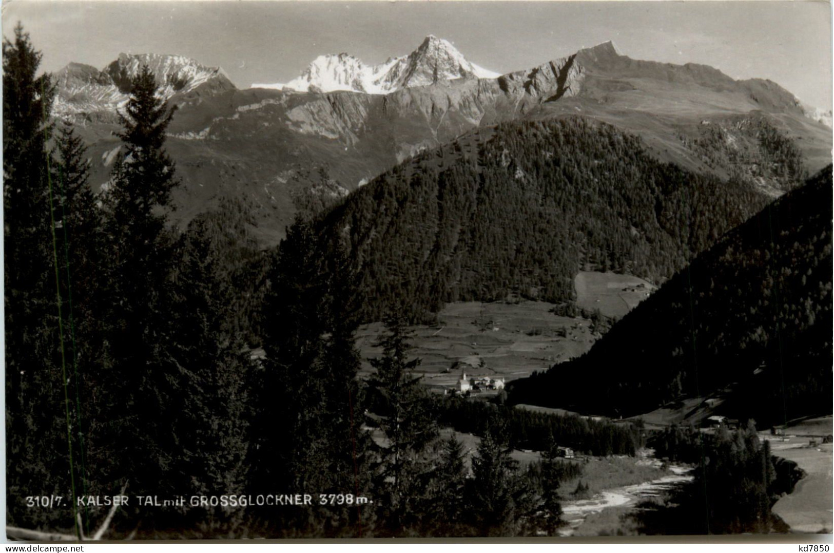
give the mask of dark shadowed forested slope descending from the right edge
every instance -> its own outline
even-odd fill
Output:
[[[768,424],[831,409],[831,167],[767,206],[511,400],[636,415],[736,384]]]

